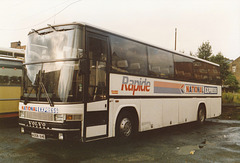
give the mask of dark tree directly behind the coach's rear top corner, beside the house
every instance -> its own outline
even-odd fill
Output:
[[[229,59],[224,57],[221,52],[219,52],[216,56],[211,56],[209,58],[211,62],[217,63],[220,65],[220,76],[221,80],[224,81],[226,80],[227,76],[230,74],[229,72]]]

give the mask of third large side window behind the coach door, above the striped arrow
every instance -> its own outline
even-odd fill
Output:
[[[177,80],[194,80],[193,75],[193,62],[194,59],[174,55],[174,71]]]

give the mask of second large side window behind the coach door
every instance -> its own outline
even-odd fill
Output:
[[[149,75],[171,79],[174,76],[172,53],[148,47]]]

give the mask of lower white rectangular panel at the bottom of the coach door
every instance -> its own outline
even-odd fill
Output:
[[[107,125],[91,126],[86,128],[86,137],[91,138],[95,136],[106,135]]]

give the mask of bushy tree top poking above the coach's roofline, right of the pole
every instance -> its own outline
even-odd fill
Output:
[[[209,57],[212,55],[212,46],[209,41],[203,42],[202,45],[198,48],[197,57],[205,60],[209,60]]]

